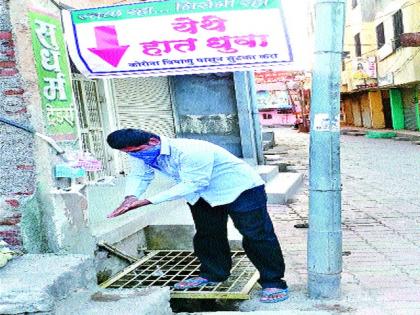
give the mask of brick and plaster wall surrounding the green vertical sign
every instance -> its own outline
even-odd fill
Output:
[[[48,0],[0,0],[0,114],[45,133],[27,15],[34,8],[59,16]],[[56,152],[2,123],[0,146],[0,238],[30,253],[93,254],[84,188],[57,189],[63,182],[52,176],[53,166],[62,163]]]

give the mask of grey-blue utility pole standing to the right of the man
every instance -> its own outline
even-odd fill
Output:
[[[344,13],[345,0],[315,2],[308,231],[308,291],[311,298],[340,295],[340,75]]]

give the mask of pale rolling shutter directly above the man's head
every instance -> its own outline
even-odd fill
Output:
[[[167,77],[114,79],[113,87],[120,128],[175,136]]]

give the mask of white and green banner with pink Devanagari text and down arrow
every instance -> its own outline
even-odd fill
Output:
[[[291,62],[279,0],[142,2],[63,15],[71,58],[87,77],[159,76]]]

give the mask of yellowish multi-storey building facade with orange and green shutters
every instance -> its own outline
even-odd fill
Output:
[[[349,0],[345,28],[342,112],[344,122],[365,128],[420,130],[420,3]]]

